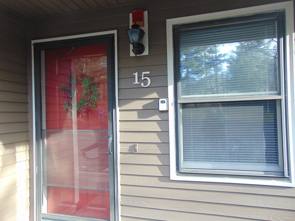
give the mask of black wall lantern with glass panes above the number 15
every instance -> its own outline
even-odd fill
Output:
[[[126,30],[130,44],[132,44],[132,52],[136,55],[141,55],[145,51],[145,46],[141,43],[143,36],[145,35],[144,30],[140,28],[138,24],[132,24],[131,28]]]

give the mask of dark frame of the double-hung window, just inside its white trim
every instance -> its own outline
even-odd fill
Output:
[[[232,18],[226,18],[226,19],[217,19],[217,20],[209,20],[209,21],[203,21],[203,22],[195,22],[195,23],[189,23],[189,24],[177,24],[177,25],[173,25],[173,63],[174,63],[174,106],[175,106],[175,123],[176,123],[176,127],[175,127],[175,139],[176,139],[176,172],[178,175],[181,176],[195,176],[196,174],[199,175],[208,175],[208,174],[224,174],[224,172],[222,172],[220,170],[220,172],[218,171],[214,171],[214,172],[202,172],[199,169],[196,169],[195,171],[183,171],[181,169],[181,154],[182,154],[182,149],[181,149],[181,143],[180,143],[180,121],[179,121],[179,111],[180,108],[178,108],[179,102],[178,100],[181,100],[180,98],[180,44],[179,44],[179,32],[183,31],[183,30],[187,30],[192,31],[196,28],[198,28],[198,30],[204,30],[204,29],[213,29],[216,28],[217,26],[222,26],[222,27],[229,27],[229,26],[233,26],[233,25],[239,25],[242,22],[246,22],[246,21],[250,21],[249,23],[255,23],[257,22],[257,20],[261,20],[261,19],[275,19],[277,21],[277,24],[280,24],[277,26],[277,34],[278,34],[278,76],[279,76],[279,81],[278,81],[278,85],[282,85],[282,82],[280,82],[281,80],[281,76],[283,77],[283,88],[281,86],[279,86],[279,93],[282,96],[286,95],[286,80],[285,80],[285,73],[281,73],[281,69],[280,67],[283,67],[283,70],[285,70],[285,56],[283,56],[283,60],[280,59],[280,57],[282,57],[282,55],[284,55],[284,53],[286,53],[285,47],[286,47],[286,39],[285,39],[285,16],[284,16],[284,11],[276,11],[276,12],[268,12],[268,13],[260,13],[260,14],[254,14],[254,15],[247,15],[247,16],[240,16],[240,17],[232,17]],[[247,23],[248,24],[248,23]],[[281,41],[279,39],[282,39]],[[281,42],[283,43],[282,45]],[[282,55],[281,55],[282,53]],[[283,89],[283,91],[282,91]],[[200,101],[198,101],[200,102]],[[205,102],[205,101],[204,101]],[[188,102],[189,103],[189,102]],[[193,103],[193,102],[192,102]],[[281,113],[281,119],[283,121],[283,119],[286,118],[287,115],[287,107],[286,107],[286,100],[282,99],[282,103],[281,105],[284,105],[284,110],[285,113]],[[282,131],[287,131],[287,123],[284,124],[284,128],[281,129]],[[288,136],[286,133],[286,136],[279,135],[282,136],[282,139],[285,139],[285,143],[288,143]],[[283,148],[283,147],[282,147]],[[286,155],[288,156],[288,148],[284,147],[286,149]],[[285,165],[285,170],[284,174],[285,175],[280,175],[278,177],[289,177],[289,162],[288,162],[288,157],[286,157],[286,160],[284,160],[283,165]],[[199,171],[198,171],[199,170]],[[225,173],[227,174],[227,176],[231,176],[231,177],[240,177],[240,175],[235,174],[235,173]],[[244,175],[248,175],[248,177],[253,176],[253,174],[244,174]],[[254,174],[255,175],[255,174]],[[265,176],[269,176],[265,175]],[[268,179],[265,178],[264,179]]]

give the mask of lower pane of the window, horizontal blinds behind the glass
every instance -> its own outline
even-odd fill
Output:
[[[276,100],[182,104],[183,162],[278,166],[276,107]]]

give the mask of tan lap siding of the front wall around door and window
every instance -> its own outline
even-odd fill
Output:
[[[170,180],[168,112],[158,110],[168,96],[166,19],[278,1],[140,0],[33,20],[33,39],[117,30],[122,220],[295,219],[294,188]],[[130,57],[126,29],[137,9],[148,11],[149,55]],[[148,88],[133,84],[143,71]]]

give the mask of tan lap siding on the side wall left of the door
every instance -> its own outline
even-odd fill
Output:
[[[0,9],[0,220],[29,220],[26,22]]]

